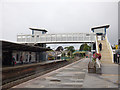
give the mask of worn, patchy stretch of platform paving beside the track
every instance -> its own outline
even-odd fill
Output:
[[[13,88],[81,88],[88,62],[89,59],[74,62],[51,74],[40,76]]]

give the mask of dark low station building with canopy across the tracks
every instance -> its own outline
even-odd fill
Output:
[[[16,64],[21,64],[21,56],[23,63],[42,62],[47,60],[46,51],[51,50],[45,47],[18,44],[8,41],[0,41],[0,43],[2,47],[3,66],[12,65],[13,57],[16,61]]]

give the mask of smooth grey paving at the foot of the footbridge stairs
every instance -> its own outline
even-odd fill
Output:
[[[118,88],[118,65],[102,64],[102,74],[86,73],[83,88]]]

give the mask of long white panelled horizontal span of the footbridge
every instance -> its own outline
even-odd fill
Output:
[[[60,33],[43,35],[17,35],[19,43],[95,42],[92,33]]]

